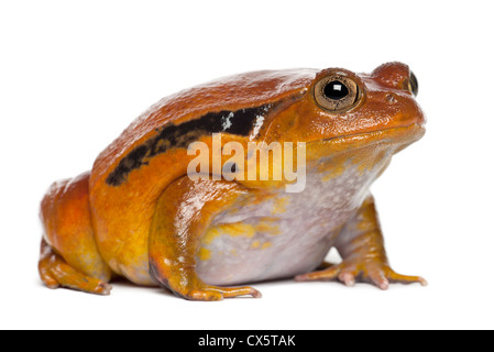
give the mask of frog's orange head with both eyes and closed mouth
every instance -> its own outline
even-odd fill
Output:
[[[325,69],[274,121],[271,133],[275,139],[330,142],[347,150],[384,142],[398,151],[425,132],[417,91],[417,78],[402,63],[384,64],[371,74]]]

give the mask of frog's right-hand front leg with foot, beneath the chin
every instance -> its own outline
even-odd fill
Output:
[[[389,267],[374,199],[371,196],[344,226],[334,246],[343,260],[341,264],[332,265],[319,272],[299,275],[296,279],[339,279],[347,286],[353,286],[355,280],[364,280],[376,285],[381,289],[387,289],[389,282],[427,285],[427,282],[419,276],[400,275]]]

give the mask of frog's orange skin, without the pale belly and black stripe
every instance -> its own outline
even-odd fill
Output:
[[[320,106],[315,88],[334,74],[360,88],[355,103],[337,112]],[[187,299],[260,297],[251,287],[205,283],[197,267],[207,258],[199,253],[207,251],[205,237],[218,215],[266,202],[286,182],[191,180],[187,165],[195,156],[187,155],[185,143],[173,144],[179,143],[179,138],[173,142],[156,140],[160,131],[188,125],[208,113],[267,106],[256,135],[252,129],[248,134],[222,133],[222,144],[235,141],[246,150],[249,141],[306,142],[308,168],[320,169],[327,179],[341,175],[349,161],[362,173],[378,168],[377,177],[392,154],[425,132],[425,117],[411,88],[408,66],[389,63],[370,75],[339,68],[251,73],[164,98],[99,155],[90,173],[50,189],[41,211],[45,230],[40,260],[43,282],[51,288],[108,295],[110,279],[123,276],[138,285],[167,287]],[[186,136],[212,144],[211,133],[190,132]],[[152,154],[153,141],[174,147]],[[140,146],[150,147],[139,154]],[[330,164],[320,163],[328,157]],[[200,210],[190,208],[191,198],[198,199]],[[347,285],[360,279],[382,289],[389,282],[425,284],[420,277],[391,270],[372,196],[355,196],[352,207],[330,231],[343,262],[329,267],[319,263],[322,271],[300,272],[296,278],[339,279]]]

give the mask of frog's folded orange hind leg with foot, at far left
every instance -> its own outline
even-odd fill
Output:
[[[55,183],[43,199],[44,238],[40,276],[50,288],[109,295],[111,270],[96,245],[88,193],[89,174]]]

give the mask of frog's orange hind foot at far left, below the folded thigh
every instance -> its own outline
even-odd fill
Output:
[[[102,296],[110,295],[112,288],[111,285],[100,279],[89,277],[74,270],[44,240],[39,270],[41,279],[48,288],[66,287]]]

